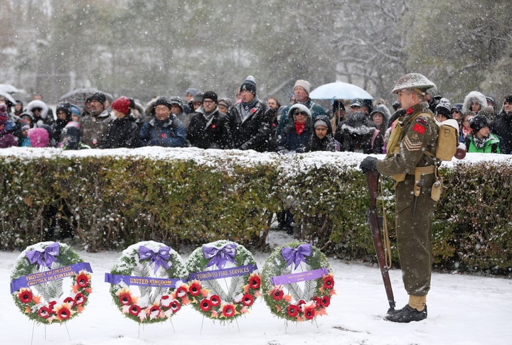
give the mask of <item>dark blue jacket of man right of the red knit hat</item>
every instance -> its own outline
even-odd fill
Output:
[[[166,121],[155,117],[142,125],[139,138],[142,146],[182,148],[186,146],[186,128],[174,114]]]

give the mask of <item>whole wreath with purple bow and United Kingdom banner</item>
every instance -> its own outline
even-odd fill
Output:
[[[164,243],[142,241],[129,246],[117,259],[105,281],[124,316],[139,323],[171,318],[187,298],[188,276],[181,256]]]

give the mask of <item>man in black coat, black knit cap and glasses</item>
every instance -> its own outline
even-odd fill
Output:
[[[201,102],[203,105],[191,114],[188,142],[198,148],[230,148],[228,116],[219,110],[217,94],[207,91]]]

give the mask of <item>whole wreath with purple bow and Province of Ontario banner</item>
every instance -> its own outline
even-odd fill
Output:
[[[19,310],[36,322],[66,322],[87,305],[91,273],[90,264],[67,244],[36,243],[22,251],[14,263],[11,295]]]

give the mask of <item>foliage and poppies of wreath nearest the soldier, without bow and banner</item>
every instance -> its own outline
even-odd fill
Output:
[[[305,256],[305,261],[299,267],[294,264],[287,266],[282,256],[282,248],[297,249],[307,243],[293,242],[276,248],[267,258],[262,269],[262,294],[265,303],[272,314],[293,322],[313,320],[326,314],[326,308],[335,295],[334,275],[329,260],[318,248],[311,246],[311,254]],[[279,275],[302,273],[310,270],[325,268],[329,273],[322,278],[305,280],[299,283],[274,285],[272,278]]]

